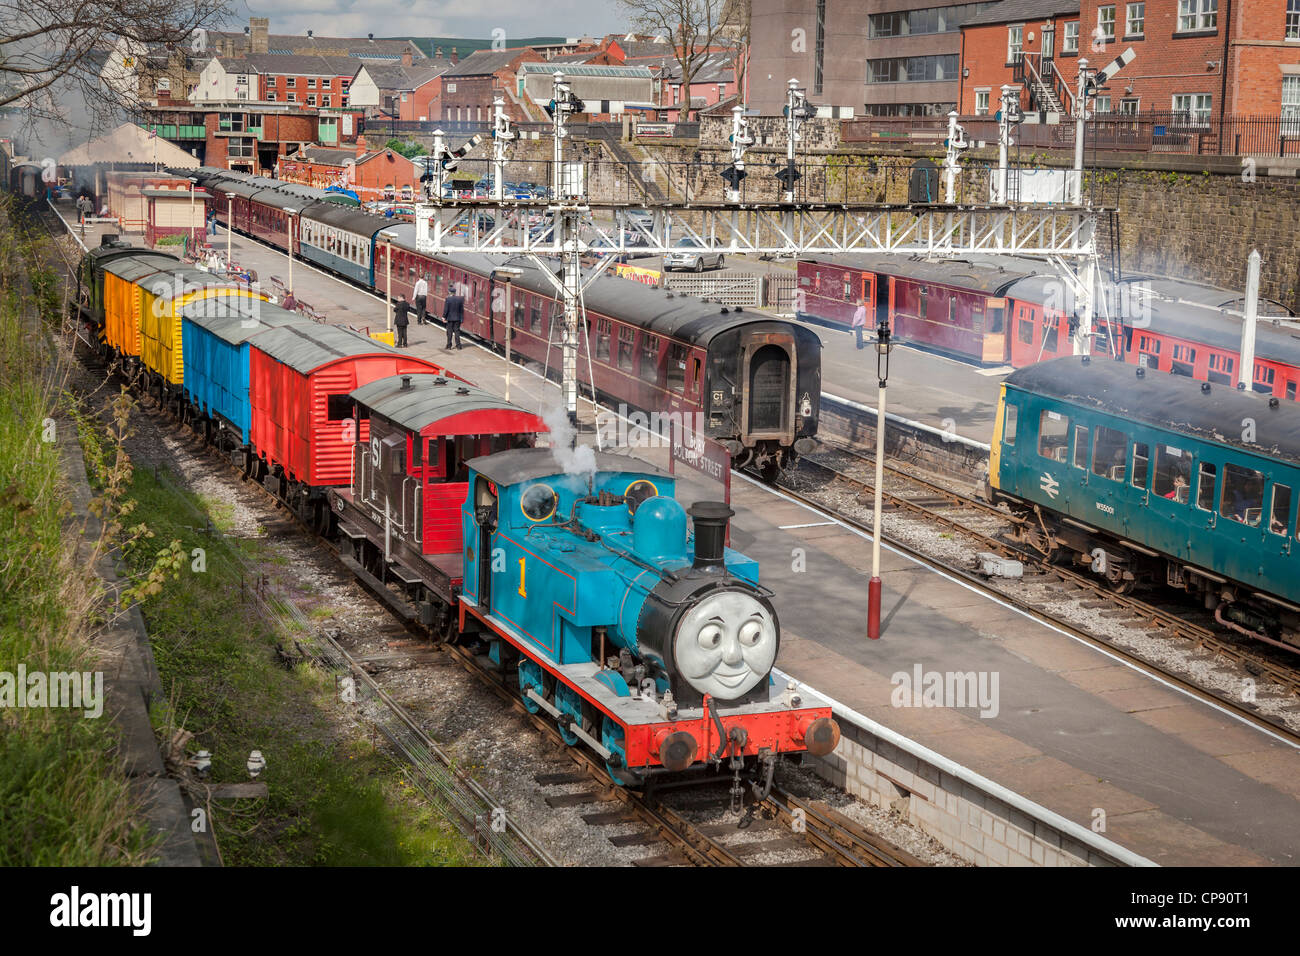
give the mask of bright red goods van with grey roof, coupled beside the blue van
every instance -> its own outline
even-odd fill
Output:
[[[407,372],[448,375],[337,325],[290,325],[259,336],[250,349],[254,454],[291,481],[348,484],[352,445],[365,440],[354,432],[348,393]]]

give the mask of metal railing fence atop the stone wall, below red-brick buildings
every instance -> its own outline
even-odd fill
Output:
[[[1040,118],[1039,122],[1032,120]],[[1022,150],[1072,150],[1074,121],[1030,116],[1015,131]],[[1044,121],[1045,120],[1045,121]],[[967,139],[997,143],[992,116],[959,117]],[[864,117],[840,126],[844,143],[881,147],[942,147],[948,117]],[[1300,156],[1300,117],[1197,116],[1182,112],[1101,113],[1084,131],[1088,150],[1193,156]]]

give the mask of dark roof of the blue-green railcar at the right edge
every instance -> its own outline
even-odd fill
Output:
[[[1167,372],[1143,372],[1110,359],[1067,356],[1026,365],[1005,384],[1035,395],[1122,419],[1231,445],[1300,464],[1300,403],[1273,403],[1266,395],[1199,382]],[[1257,441],[1242,438],[1243,420],[1256,423]]]

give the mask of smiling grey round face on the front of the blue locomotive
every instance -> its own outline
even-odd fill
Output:
[[[682,617],[673,656],[693,688],[719,700],[734,700],[772,670],[776,622],[753,594],[719,591]]]

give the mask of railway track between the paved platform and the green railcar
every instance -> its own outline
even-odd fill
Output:
[[[849,492],[853,499],[870,503],[875,493],[874,468],[874,459],[849,449],[835,449],[829,454],[801,459],[798,473],[818,481],[819,492],[828,494]],[[970,541],[975,546],[975,550],[992,551],[1001,557],[1014,558],[1022,562],[1027,571],[1032,568],[1032,575],[1026,574],[1026,579],[1060,583],[1062,588],[1069,589],[1080,602],[1084,602],[1082,606],[1117,610],[1123,615],[1115,617],[1117,623],[1147,631],[1157,631],[1161,636],[1166,637],[1182,639],[1191,643],[1195,648],[1238,663],[1252,674],[1268,676],[1292,695],[1300,695],[1300,671],[1288,662],[1271,659],[1235,641],[1225,640],[1209,627],[1188,620],[1179,613],[1158,607],[1132,594],[1117,593],[1093,575],[1080,574],[1069,567],[1046,562],[1036,553],[1004,540],[1001,535],[1011,528],[1014,519],[1008,512],[988,502],[945,488],[936,481],[913,475],[888,463],[884,466],[884,473],[881,502],[885,514],[893,511],[919,518],[932,525],[944,528],[946,533],[961,536],[963,540]],[[800,499],[803,505],[871,533],[870,523],[844,514],[841,509],[829,507],[823,501],[819,501],[818,497],[814,497],[814,494],[790,488],[789,485],[790,481],[785,481],[781,485],[783,490]],[[902,540],[898,535],[890,535],[888,531],[883,535],[883,540],[924,564],[958,576],[972,587],[994,594],[998,600],[1011,604],[1053,627],[1061,628],[1095,646],[1102,646],[1109,653],[1122,657],[1149,674],[1157,675],[1202,700],[1228,709],[1243,719],[1273,731],[1291,743],[1300,744],[1300,732],[1291,730],[1284,723],[1256,711],[1243,701],[1228,695],[1183,678],[1162,665],[1119,646],[1102,636],[1089,633],[1072,622],[1065,620],[1060,614],[1044,611],[1035,602],[1018,594],[1014,587],[997,587],[991,580],[975,574],[968,566],[937,558],[932,553]]]

